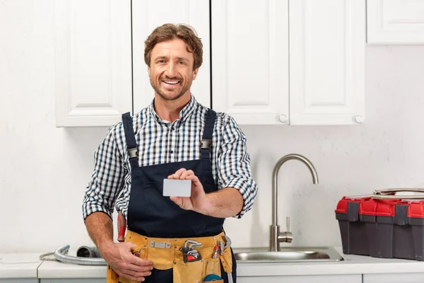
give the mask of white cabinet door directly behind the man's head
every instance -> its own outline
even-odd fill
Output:
[[[164,23],[192,25],[203,44],[203,64],[199,69],[191,91],[199,103],[211,106],[211,44],[208,0],[133,0],[133,72],[134,112],[148,106],[154,91],[148,79],[144,62],[144,41],[148,35]]]

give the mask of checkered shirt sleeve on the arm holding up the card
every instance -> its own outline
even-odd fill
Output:
[[[241,218],[252,209],[258,187],[252,178],[246,136],[232,117],[225,125],[219,150],[218,183],[220,187],[234,187],[242,194],[245,204],[240,214],[235,216]]]

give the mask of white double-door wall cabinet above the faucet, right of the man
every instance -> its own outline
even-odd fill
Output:
[[[213,109],[239,124],[363,122],[365,0],[218,0],[211,10]]]

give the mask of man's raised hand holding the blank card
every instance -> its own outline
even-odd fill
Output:
[[[193,210],[202,214],[208,211],[209,201],[206,197],[204,187],[201,185],[199,178],[194,175],[192,170],[185,168],[179,169],[168,179],[174,180],[192,180],[192,196],[191,197],[170,197],[172,202],[175,202],[179,207],[186,210]]]

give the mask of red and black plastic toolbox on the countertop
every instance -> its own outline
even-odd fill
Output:
[[[395,195],[421,192],[423,195]],[[424,260],[424,190],[375,190],[337,204],[344,254]]]

